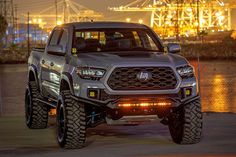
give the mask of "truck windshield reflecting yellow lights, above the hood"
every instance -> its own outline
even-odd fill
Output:
[[[76,30],[73,48],[80,52],[160,51],[147,29]]]

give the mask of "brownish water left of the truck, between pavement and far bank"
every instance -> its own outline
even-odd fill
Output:
[[[23,115],[26,82],[26,64],[0,65],[0,107],[2,105],[3,115]]]

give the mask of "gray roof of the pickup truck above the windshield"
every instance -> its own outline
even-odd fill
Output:
[[[96,28],[143,28],[148,27],[143,24],[127,22],[75,22],[67,23],[63,26],[74,26],[76,29],[96,29]]]

